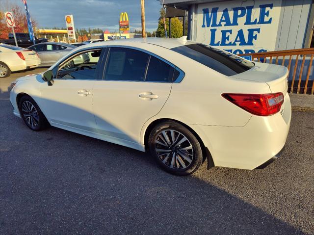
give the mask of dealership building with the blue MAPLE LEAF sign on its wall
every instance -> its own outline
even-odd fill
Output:
[[[235,54],[314,47],[313,0],[161,0],[188,11],[188,38]]]

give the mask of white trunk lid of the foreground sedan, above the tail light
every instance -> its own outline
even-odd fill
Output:
[[[255,66],[243,73],[231,76],[244,80],[265,82],[271,93],[288,91],[288,69],[284,66],[254,62]]]

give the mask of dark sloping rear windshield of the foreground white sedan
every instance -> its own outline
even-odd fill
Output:
[[[226,76],[243,73],[254,66],[251,61],[204,44],[189,44],[171,50],[196,60]]]

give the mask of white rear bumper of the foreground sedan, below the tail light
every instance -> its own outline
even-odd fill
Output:
[[[244,127],[189,126],[209,149],[215,166],[252,170],[277,157],[286,144],[290,121],[287,94],[281,112],[268,117],[252,115]]]

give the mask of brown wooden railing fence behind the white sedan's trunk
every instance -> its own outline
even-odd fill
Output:
[[[289,70],[289,92],[313,95],[314,66],[312,65],[314,48],[239,55],[251,55],[252,61],[286,66]]]

